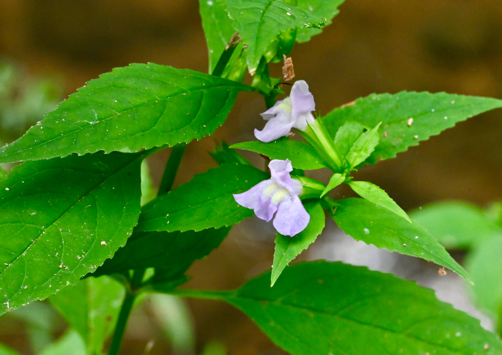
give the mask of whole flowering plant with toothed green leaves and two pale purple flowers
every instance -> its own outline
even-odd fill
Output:
[[[499,256],[478,256],[494,266],[480,268],[478,261],[470,269],[478,272],[470,273],[438,241],[449,230],[437,228],[448,225],[449,213],[476,220],[479,228],[470,234],[482,238],[454,245],[478,255],[497,250],[497,217],[455,204],[407,214],[355,175],[501,108],[501,100],[402,91],[314,117],[310,89],[319,88],[299,80],[276,102],[281,83],[294,76],[287,56],[295,42],[319,34],[341,3],[201,0],[210,74],[154,63],[115,68],[2,147],[0,163],[22,163],[0,174],[0,313],[49,299],[71,330],[46,355],[118,354],[133,305],[152,294],[226,302],[292,354],[500,353],[494,332],[411,281],[341,262],[286,268],[321,235],[328,217],[356,240],[481,285],[473,289],[476,299],[494,322],[501,318],[501,288],[483,288],[500,286],[498,276],[486,281]],[[283,60],[285,76],[271,77],[269,66]],[[267,123],[254,131],[258,140],[217,145],[211,154],[217,166],[173,189],[187,144],[223,125],[241,92],[265,100]],[[298,136],[289,134],[293,128]],[[169,160],[154,189],[145,161],[164,150]],[[269,172],[242,150],[264,157]],[[325,180],[312,177],[318,169],[328,171]],[[341,197],[339,187],[359,197]],[[188,289],[190,265],[253,214],[273,219],[272,269],[233,291]]]

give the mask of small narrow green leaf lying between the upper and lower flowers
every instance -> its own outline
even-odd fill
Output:
[[[315,170],[327,167],[312,146],[298,140],[278,139],[270,143],[249,141],[231,145],[233,149],[244,149],[263,154],[270,159],[289,159],[296,169]]]

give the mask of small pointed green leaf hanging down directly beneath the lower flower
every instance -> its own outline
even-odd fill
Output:
[[[325,225],[324,210],[319,202],[305,203],[305,209],[311,219],[307,227],[294,237],[277,233],[274,263],[272,265],[271,287],[289,262],[303,252],[308,245],[316,241]]]

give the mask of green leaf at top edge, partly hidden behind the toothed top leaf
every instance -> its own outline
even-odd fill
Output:
[[[333,17],[339,13],[338,7],[343,4],[343,1],[344,0],[296,0],[295,3],[299,8],[310,12],[312,16],[319,16],[325,19],[324,25],[328,26],[331,24]],[[296,42],[308,42],[314,35],[319,33],[321,33],[321,28],[298,27]]]

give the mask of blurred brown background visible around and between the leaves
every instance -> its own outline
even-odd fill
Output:
[[[500,98],[502,7],[495,0],[347,0],[332,25],[310,43],[297,44],[291,55],[296,79],[310,85],[321,114],[373,92],[427,90]],[[195,1],[1,0],[0,57],[32,75],[59,78],[65,94],[130,62],[207,71]],[[280,64],[273,71],[279,73]],[[254,139],[252,130],[262,127],[258,114],[264,109],[256,94],[240,95],[214,137],[228,143]],[[481,206],[499,200],[500,118],[496,110],[460,123],[395,159],[363,169],[358,178],[381,186],[404,209],[444,199]],[[189,146],[177,184],[215,166],[206,154],[213,147],[213,137]],[[165,159],[150,161],[157,180]],[[271,265],[273,234],[264,229],[255,240],[240,236],[243,229],[236,228],[219,250],[192,267],[189,286],[234,288]],[[211,340],[222,341],[231,354],[283,353],[230,306],[190,305],[198,353]],[[159,334],[148,317],[133,315],[127,337],[124,354],[141,353],[148,339]],[[158,340],[150,353],[169,353],[169,345]]]

